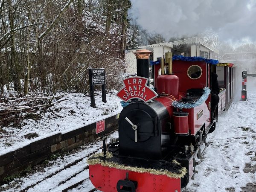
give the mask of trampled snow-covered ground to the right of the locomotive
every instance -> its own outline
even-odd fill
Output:
[[[248,91],[247,97],[219,116],[216,130],[208,135],[204,160],[196,167],[198,174],[187,189],[240,192],[247,183],[256,183],[256,91]]]

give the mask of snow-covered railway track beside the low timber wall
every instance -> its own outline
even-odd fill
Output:
[[[108,138],[116,138],[116,132]],[[108,143],[110,145],[110,143]],[[3,192],[94,192],[97,189],[89,179],[87,158],[101,151],[102,141],[83,145],[81,148],[62,154],[61,158],[50,160],[47,165],[33,168],[27,176],[15,179],[5,186]],[[81,188],[81,189],[80,189]],[[80,190],[79,190],[80,189]],[[99,192],[99,191],[98,191]]]

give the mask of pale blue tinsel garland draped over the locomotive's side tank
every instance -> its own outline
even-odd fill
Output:
[[[191,109],[195,108],[199,105],[201,105],[203,102],[205,102],[211,93],[211,89],[209,87],[204,87],[204,94],[198,99],[196,102],[193,103],[183,103],[183,102],[172,102],[172,106],[179,109]]]

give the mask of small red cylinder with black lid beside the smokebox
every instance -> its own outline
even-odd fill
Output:
[[[189,135],[189,113],[182,111],[173,112],[174,133],[179,136]]]

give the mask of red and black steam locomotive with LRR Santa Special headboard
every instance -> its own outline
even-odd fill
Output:
[[[117,96],[128,104],[119,115],[119,141],[88,160],[90,180],[102,192],[180,192],[196,173],[197,158],[214,131],[211,72],[217,60],[174,56],[154,63],[149,87],[148,50],[134,53],[137,77]]]

